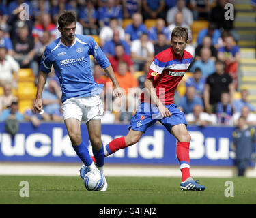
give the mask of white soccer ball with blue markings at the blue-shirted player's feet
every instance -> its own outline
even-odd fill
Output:
[[[100,191],[105,184],[104,176],[99,170],[87,172],[83,181],[88,191]]]

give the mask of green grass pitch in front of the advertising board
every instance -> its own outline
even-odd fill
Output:
[[[108,190],[95,192],[79,176],[0,176],[0,204],[256,204],[256,178],[199,178],[205,191],[181,191],[173,177],[106,179]],[[20,197],[20,181],[29,183],[28,198]],[[225,197],[226,181],[233,197]]]

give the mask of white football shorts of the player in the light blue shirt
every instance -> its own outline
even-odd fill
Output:
[[[89,97],[72,97],[62,104],[63,118],[75,118],[87,123],[91,119],[101,119],[103,105],[99,95]]]

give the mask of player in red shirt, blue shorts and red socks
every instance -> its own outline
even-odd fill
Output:
[[[182,172],[180,189],[203,191],[205,187],[190,176],[191,136],[186,129],[184,113],[173,104],[177,85],[193,60],[192,55],[184,50],[187,43],[188,29],[175,27],[171,35],[171,47],[158,53],[150,65],[144,83],[150,96],[142,93],[141,102],[128,127],[130,131],[126,136],[116,138],[104,146],[104,153],[108,156],[119,149],[136,144],[147,128],[159,121],[177,138],[177,159],[180,161]],[[83,168],[81,173],[83,174]]]

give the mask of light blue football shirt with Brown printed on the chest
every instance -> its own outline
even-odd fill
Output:
[[[65,46],[61,38],[46,46],[40,70],[49,73],[53,65],[61,84],[62,102],[71,97],[98,95],[102,91],[104,85],[95,82],[89,55],[94,56],[100,67],[109,67],[109,59],[89,35],[76,34],[72,46]]]

